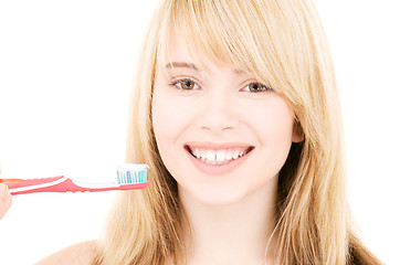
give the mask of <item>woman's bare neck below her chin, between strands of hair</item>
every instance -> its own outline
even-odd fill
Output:
[[[186,231],[188,264],[269,264],[277,177],[270,182],[224,205],[203,204],[179,188],[190,222],[190,231]]]

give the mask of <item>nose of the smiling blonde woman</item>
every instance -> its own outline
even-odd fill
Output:
[[[210,92],[202,105],[198,119],[202,129],[220,132],[238,127],[239,117],[231,95],[221,91]]]

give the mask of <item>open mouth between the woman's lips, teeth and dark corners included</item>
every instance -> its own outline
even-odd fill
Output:
[[[254,147],[248,146],[248,147],[208,149],[208,148],[186,145],[185,149],[192,157],[207,165],[224,165],[246,156],[249,152],[251,152],[254,149]]]

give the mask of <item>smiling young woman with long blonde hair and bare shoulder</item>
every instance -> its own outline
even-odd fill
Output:
[[[150,184],[119,194],[104,239],[42,264],[381,264],[351,227],[309,1],[165,0],[139,65],[126,161]]]

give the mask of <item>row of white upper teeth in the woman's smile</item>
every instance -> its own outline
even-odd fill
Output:
[[[231,160],[242,157],[246,149],[222,149],[222,150],[211,150],[211,149],[200,149],[200,148],[190,148],[191,153],[200,159],[201,161],[210,165],[221,165],[229,162]]]

